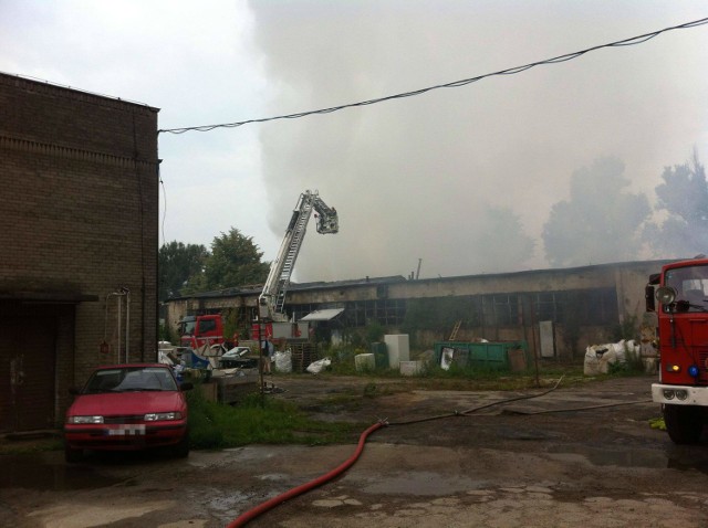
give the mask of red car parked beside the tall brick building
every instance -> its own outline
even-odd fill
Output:
[[[189,455],[187,400],[171,369],[160,363],[112,365],[94,370],[66,411],[66,462],[83,450],[168,447]]]

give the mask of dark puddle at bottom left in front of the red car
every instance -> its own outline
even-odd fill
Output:
[[[37,455],[17,455],[2,461],[0,488],[37,490],[86,489],[117,484],[118,479],[98,475],[83,464],[48,462]]]

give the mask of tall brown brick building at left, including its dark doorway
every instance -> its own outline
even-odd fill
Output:
[[[156,358],[157,113],[0,73],[0,432]]]

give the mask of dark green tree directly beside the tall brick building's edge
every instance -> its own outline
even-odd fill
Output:
[[[159,300],[179,295],[189,277],[199,274],[209,252],[204,245],[173,241],[158,253]]]

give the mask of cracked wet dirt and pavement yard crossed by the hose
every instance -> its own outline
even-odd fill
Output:
[[[253,527],[705,527],[708,441],[676,446],[648,420],[653,378],[538,394],[404,391],[395,380],[275,376],[272,398],[362,431],[386,420],[342,475]],[[269,383],[271,379],[269,379]],[[280,392],[282,390],[282,392]],[[581,408],[584,408],[581,410]],[[0,457],[0,526],[222,527],[341,466],[334,446],[253,445],[187,460],[63,453]]]

